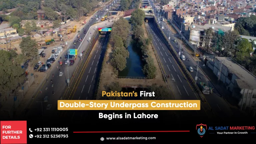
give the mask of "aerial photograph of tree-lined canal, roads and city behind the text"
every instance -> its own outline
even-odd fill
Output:
[[[0,0],[0,119],[98,118],[58,110],[58,100],[200,100],[200,110],[142,112],[255,119],[255,8],[255,0]],[[154,97],[102,95],[140,91]]]

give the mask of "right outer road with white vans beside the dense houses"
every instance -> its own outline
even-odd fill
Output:
[[[158,16],[156,17],[158,18]],[[161,21],[161,16],[159,16],[159,19]],[[181,39],[179,35],[176,35],[177,37],[175,37],[175,35],[170,31],[170,29],[168,28],[165,22],[161,21],[159,25],[160,27],[162,26],[165,27],[165,29],[163,29],[163,33],[167,38],[170,36],[169,42],[172,45],[172,47],[175,49],[176,53],[178,54],[181,46],[181,49],[183,49],[183,51],[181,50],[181,52],[183,52],[183,54],[185,55],[185,58],[190,59],[190,61],[182,61],[182,62],[186,66],[188,71],[189,71],[189,67],[192,67],[194,69],[193,72],[189,72],[189,73],[192,76],[192,78],[195,78],[196,72],[197,72],[197,69],[196,69],[197,63],[193,60],[191,55],[187,51],[185,51],[185,48],[180,44],[180,41],[178,41],[177,38],[179,38],[179,40]],[[176,42],[173,41],[174,39],[176,40]],[[202,66],[203,65],[199,65],[199,67],[202,67]],[[201,69],[198,69],[197,76],[198,76],[198,79],[196,84],[199,87],[200,87],[200,82],[205,82],[208,86],[214,87],[213,84],[210,82],[210,80],[204,75]],[[201,79],[200,79],[200,76],[202,77]],[[218,93],[218,91],[215,90],[213,94],[205,95],[205,98],[216,115],[220,117],[230,117],[232,115],[232,110],[228,106],[228,104],[225,102],[225,100],[222,99],[219,95],[220,94]]]

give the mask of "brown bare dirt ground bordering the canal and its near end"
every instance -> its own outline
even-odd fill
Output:
[[[145,25],[143,24],[142,27],[145,31],[144,36],[148,37]],[[100,74],[100,84],[99,84],[99,88],[98,88],[97,99],[101,98],[101,91],[106,91],[108,88],[108,84],[110,84],[112,82],[119,82],[119,84],[122,87],[127,87],[127,86],[146,87],[146,86],[152,85],[154,83],[157,83],[158,85],[165,85],[162,75],[161,75],[160,67],[158,66],[156,56],[154,55],[154,51],[153,51],[153,48],[151,45],[149,46],[149,50],[151,52],[151,56],[154,58],[154,64],[157,68],[157,71],[156,71],[157,74],[156,74],[155,79],[148,79],[148,80],[117,78],[113,74],[113,67],[111,66],[111,64],[107,64],[107,62],[110,61],[110,55],[112,53],[112,46],[113,46],[113,44],[111,42],[109,42],[108,46],[107,46],[107,51],[106,51],[106,54],[104,57],[104,61],[103,61],[102,71]]]

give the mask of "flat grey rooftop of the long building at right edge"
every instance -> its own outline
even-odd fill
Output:
[[[216,59],[240,78],[237,82],[239,82],[238,85],[243,86],[241,88],[256,89],[256,77],[253,74],[229,57],[217,57]]]

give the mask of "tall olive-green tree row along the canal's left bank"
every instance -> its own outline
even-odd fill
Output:
[[[122,71],[126,67],[126,58],[129,57],[126,47],[130,43],[130,29],[131,25],[122,17],[113,23],[110,41],[114,45],[110,62],[115,69],[115,74],[118,74],[118,71]]]

